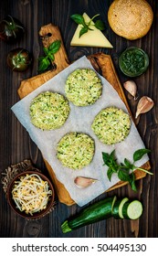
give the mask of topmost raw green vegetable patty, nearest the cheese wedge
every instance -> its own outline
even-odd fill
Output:
[[[65,92],[76,106],[88,106],[100,98],[102,84],[92,69],[76,69],[66,81]]]

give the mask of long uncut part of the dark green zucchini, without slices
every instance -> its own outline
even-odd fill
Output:
[[[116,196],[102,199],[87,208],[83,208],[76,216],[66,220],[61,229],[63,233],[67,233],[73,229],[89,225],[102,219],[111,218],[113,205],[116,201]]]

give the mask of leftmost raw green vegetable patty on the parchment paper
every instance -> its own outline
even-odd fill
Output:
[[[66,122],[69,111],[64,96],[57,92],[42,92],[31,102],[31,123],[42,130],[55,130]]]

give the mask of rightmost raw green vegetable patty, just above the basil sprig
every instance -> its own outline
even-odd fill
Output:
[[[131,120],[127,113],[115,107],[109,107],[99,112],[91,128],[100,142],[117,144],[130,133]]]

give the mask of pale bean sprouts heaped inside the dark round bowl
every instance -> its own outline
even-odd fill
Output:
[[[15,181],[12,189],[16,208],[30,215],[47,208],[47,202],[51,195],[52,190],[49,189],[47,181],[37,174],[21,176],[19,180]]]

